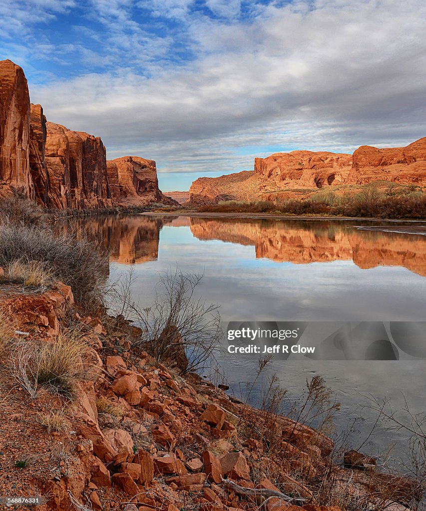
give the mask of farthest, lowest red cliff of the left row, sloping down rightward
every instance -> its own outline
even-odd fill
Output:
[[[159,190],[154,160],[139,156],[123,156],[107,161],[108,178],[113,183],[112,194],[126,205],[145,205],[151,202],[177,205]]]

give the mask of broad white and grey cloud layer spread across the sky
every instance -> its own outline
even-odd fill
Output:
[[[149,77],[124,61],[114,73],[31,89],[50,120],[102,136],[109,157],[142,154],[169,171],[225,172],[252,168],[244,146],[348,150],[426,134],[421,0],[253,5],[254,19],[232,21],[236,2],[223,11],[226,22],[190,14],[187,0],[155,2],[138,5],[184,16],[194,60],[152,62]],[[149,48],[139,26],[123,28],[129,2],[97,4],[112,27],[111,51],[127,49],[131,60],[135,48],[148,48],[150,61],[155,51],[167,58],[172,39]],[[210,5],[218,14],[225,6]]]

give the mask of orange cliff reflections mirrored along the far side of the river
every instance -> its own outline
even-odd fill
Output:
[[[137,215],[87,218],[79,220],[76,228],[109,250],[111,261],[126,265],[155,261],[160,231],[167,225],[189,227],[192,235],[201,241],[253,246],[256,258],[294,264],[353,261],[363,269],[401,266],[426,275],[426,236],[360,230],[355,227],[358,224],[358,221],[336,220]],[[385,228],[392,229],[392,226]]]

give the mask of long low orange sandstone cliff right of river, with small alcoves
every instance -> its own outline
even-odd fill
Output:
[[[189,190],[188,204],[267,200],[286,190],[362,185],[380,180],[426,185],[426,137],[406,147],[361,146],[353,154],[292,151],[255,158],[253,171],[196,179]]]

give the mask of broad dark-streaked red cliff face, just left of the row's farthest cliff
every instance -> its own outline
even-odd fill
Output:
[[[55,207],[111,205],[106,150],[99,137],[48,122],[45,158]]]

